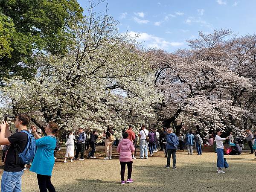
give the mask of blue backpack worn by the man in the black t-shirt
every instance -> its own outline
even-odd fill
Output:
[[[27,141],[26,146],[22,152],[20,152],[18,154],[17,151],[15,151],[16,152],[16,163],[18,163],[17,159],[19,158],[20,163],[23,165],[26,165],[26,164],[31,163],[31,161],[33,160],[33,158],[35,156],[35,137],[25,130],[20,131],[20,132],[26,133],[28,135],[28,141]],[[16,145],[16,146],[18,147],[18,145]]]

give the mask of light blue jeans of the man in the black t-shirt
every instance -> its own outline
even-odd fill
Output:
[[[1,192],[21,192],[21,176],[24,169],[20,172],[3,171],[1,180]]]

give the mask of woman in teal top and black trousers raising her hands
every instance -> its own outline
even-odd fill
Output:
[[[38,147],[33,159],[30,171],[35,172],[38,178],[40,192],[55,192],[51,183],[52,169],[54,165],[53,151],[56,145],[55,135],[58,133],[58,125],[49,122],[44,129],[47,136],[41,137],[36,132],[36,127],[32,125],[32,131],[35,135],[35,145]]]

